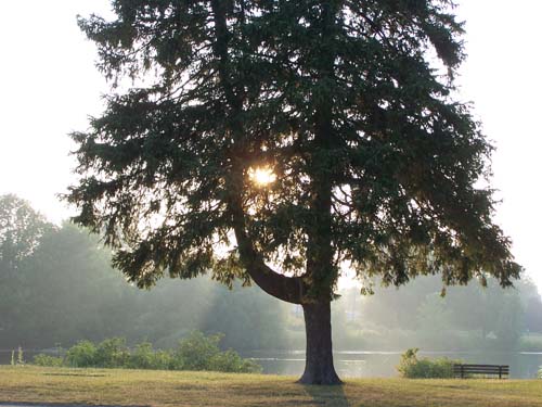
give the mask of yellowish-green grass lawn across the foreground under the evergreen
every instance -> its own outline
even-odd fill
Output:
[[[0,402],[138,406],[542,407],[542,380],[354,379],[296,384],[262,374],[0,367]]]

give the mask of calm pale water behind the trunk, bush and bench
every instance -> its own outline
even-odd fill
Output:
[[[397,377],[401,352],[335,352],[335,368],[344,378]],[[542,353],[421,352],[422,357],[449,357],[468,364],[509,365],[512,379],[534,379],[542,366]],[[305,367],[305,351],[249,352],[264,373],[299,376]]]

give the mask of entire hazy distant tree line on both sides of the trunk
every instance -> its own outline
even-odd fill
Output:
[[[69,347],[122,336],[175,347],[193,330],[223,332],[237,351],[302,348],[301,313],[256,288],[207,278],[128,284],[111,253],[86,230],[55,226],[14,195],[0,196],[0,349]],[[378,282],[376,281],[376,285]],[[359,288],[334,302],[336,349],[542,349],[542,301],[529,280],[502,290],[494,280],[448,288],[438,277],[401,289]],[[287,327],[287,329],[284,329]]]

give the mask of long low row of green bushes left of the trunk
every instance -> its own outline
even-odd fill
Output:
[[[38,366],[69,366],[77,368],[128,368],[154,370],[209,370],[250,373],[261,371],[251,360],[243,359],[232,349],[220,351],[222,334],[206,336],[193,331],[171,351],[154,349],[149,342],[136,345],[130,352],[126,340],[112,338],[98,345],[80,341],[72,346],[64,358],[37,355],[34,364]]]

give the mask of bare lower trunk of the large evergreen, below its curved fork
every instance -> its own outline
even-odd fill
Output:
[[[302,384],[341,384],[333,366],[330,302],[302,304],[307,355]]]

